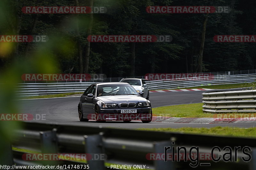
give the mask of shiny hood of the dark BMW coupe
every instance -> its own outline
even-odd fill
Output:
[[[140,97],[139,95],[99,96],[97,98],[105,103],[127,103],[127,100],[129,103],[147,101],[147,99]]]

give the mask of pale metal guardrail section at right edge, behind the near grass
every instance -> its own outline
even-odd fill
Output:
[[[205,92],[202,95],[206,113],[256,112],[256,90]]]

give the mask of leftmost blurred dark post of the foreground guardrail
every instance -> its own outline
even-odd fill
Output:
[[[52,130],[40,132],[42,153],[57,153],[56,131],[57,129],[54,128]]]

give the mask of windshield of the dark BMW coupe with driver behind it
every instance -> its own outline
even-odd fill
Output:
[[[110,95],[139,95],[138,92],[131,85],[111,84],[99,85],[97,88],[97,96]]]

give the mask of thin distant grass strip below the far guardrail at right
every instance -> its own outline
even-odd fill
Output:
[[[234,88],[244,88],[244,87],[250,87],[250,83],[239,83],[239,84],[228,84],[228,85],[202,85],[202,86],[196,86],[196,87],[186,87],[186,88],[177,88],[177,89],[234,89]],[[159,90],[177,90],[177,89],[159,89]]]

